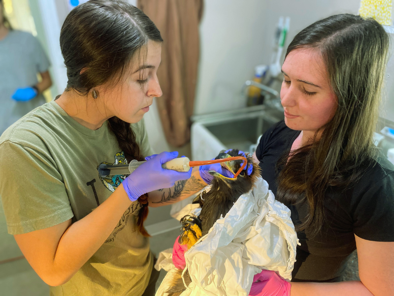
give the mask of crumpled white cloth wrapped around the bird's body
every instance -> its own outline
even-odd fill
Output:
[[[196,205],[188,206],[182,215],[197,216],[199,211]],[[262,269],[291,280],[297,243],[290,210],[275,200],[259,178],[253,190],[241,195],[229,213],[185,253],[192,283],[182,296],[247,296],[253,276]],[[155,267],[166,265],[173,270],[166,258]],[[156,296],[165,296],[171,275],[167,273]]]

